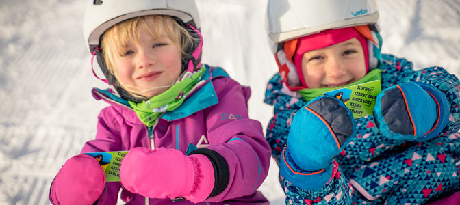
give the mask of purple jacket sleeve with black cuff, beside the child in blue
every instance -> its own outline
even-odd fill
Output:
[[[248,118],[248,87],[229,77],[212,80],[218,104],[204,110],[209,146],[204,154],[214,165],[216,184],[205,202],[221,202],[254,193],[268,174],[270,147],[257,120]]]

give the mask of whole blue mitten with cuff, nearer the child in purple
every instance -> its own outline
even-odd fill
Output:
[[[342,100],[331,96],[310,100],[292,120],[280,174],[304,190],[323,187],[337,172],[333,158],[355,136],[355,124]]]

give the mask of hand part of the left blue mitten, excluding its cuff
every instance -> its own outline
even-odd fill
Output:
[[[288,150],[306,171],[324,169],[355,136],[355,118],[342,100],[320,96],[310,100],[292,120]]]

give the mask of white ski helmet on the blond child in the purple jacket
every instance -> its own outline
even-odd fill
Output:
[[[200,18],[194,0],[89,0],[83,32],[90,52],[99,46],[102,34],[117,23],[138,16],[166,15],[200,29]]]

